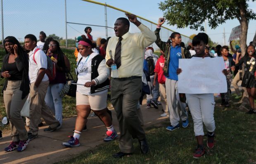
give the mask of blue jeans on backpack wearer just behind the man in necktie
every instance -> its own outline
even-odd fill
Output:
[[[154,78],[150,78],[150,81],[148,81],[149,89],[150,89],[150,95],[147,95],[147,104],[151,103],[151,101],[158,101],[158,97],[160,95],[159,93],[159,83],[156,79],[156,85],[153,86]]]

